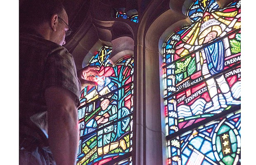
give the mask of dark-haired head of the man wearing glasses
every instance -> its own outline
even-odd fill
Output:
[[[33,28],[61,46],[66,43],[69,22],[60,0],[25,0],[20,6],[19,23],[21,28]]]

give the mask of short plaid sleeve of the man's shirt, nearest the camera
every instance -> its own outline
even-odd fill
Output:
[[[47,57],[44,88],[51,86],[69,90],[74,94],[77,107],[80,105],[81,83],[77,78],[73,56],[64,47],[57,48]]]

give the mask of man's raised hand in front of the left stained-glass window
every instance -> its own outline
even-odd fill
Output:
[[[98,66],[85,66],[83,69],[77,71],[78,79],[81,82],[81,90],[88,85],[97,86],[95,76],[99,76]]]

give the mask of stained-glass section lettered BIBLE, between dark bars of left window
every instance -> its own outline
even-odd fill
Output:
[[[127,128],[125,130],[121,129],[121,127],[124,128],[125,124],[128,125]],[[82,140],[79,143],[81,154],[78,156],[77,164],[102,164],[132,151],[132,126],[132,117],[127,117],[113,122],[109,126],[99,128],[97,133],[91,134],[86,138],[81,138]],[[115,132],[115,127],[120,127],[123,133]],[[117,138],[115,134],[118,133],[121,135]]]

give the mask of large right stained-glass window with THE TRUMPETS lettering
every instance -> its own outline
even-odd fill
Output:
[[[240,5],[194,0],[163,46],[170,165],[240,164]]]

